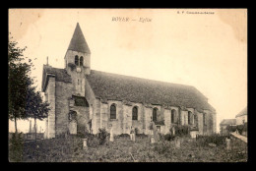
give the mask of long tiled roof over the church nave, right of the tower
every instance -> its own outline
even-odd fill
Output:
[[[138,103],[185,106],[215,112],[207,98],[194,86],[169,84],[147,79],[91,70],[87,76],[96,97]]]

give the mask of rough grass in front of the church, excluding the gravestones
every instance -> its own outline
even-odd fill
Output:
[[[53,139],[25,142],[23,162],[245,162],[247,144],[233,139],[231,150],[224,144],[209,146],[202,141],[183,138],[180,148],[174,142],[150,143],[148,137],[131,142],[129,137],[117,137],[114,142],[98,145],[96,138],[83,149],[83,140]],[[132,158],[131,154],[134,159]],[[12,155],[10,152],[10,161]]]

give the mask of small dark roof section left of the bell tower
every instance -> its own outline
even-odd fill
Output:
[[[41,82],[42,91],[45,90],[45,84],[47,84],[46,74],[54,75],[55,81],[57,82],[72,83],[72,79],[67,74],[65,69],[58,69],[58,68],[53,68],[47,65],[43,65],[42,82]]]

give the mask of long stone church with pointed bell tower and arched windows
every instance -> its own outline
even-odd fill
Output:
[[[151,120],[160,134],[187,125],[199,135],[216,133],[216,110],[191,85],[170,84],[91,69],[91,50],[77,24],[64,57],[65,68],[43,65],[41,89],[51,110],[44,139],[99,128],[113,134],[150,134]]]

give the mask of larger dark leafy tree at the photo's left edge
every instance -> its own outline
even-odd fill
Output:
[[[26,96],[29,87],[33,84],[30,77],[32,60],[25,62],[23,52],[25,48],[17,46],[18,42],[9,39],[8,42],[8,115],[15,122],[17,133],[17,119],[26,119]]]

